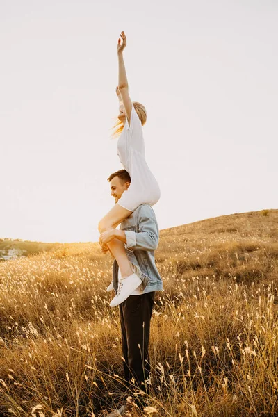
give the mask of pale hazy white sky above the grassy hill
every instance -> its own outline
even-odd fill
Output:
[[[1,0],[0,238],[97,241],[124,30],[159,229],[278,208],[275,0]]]

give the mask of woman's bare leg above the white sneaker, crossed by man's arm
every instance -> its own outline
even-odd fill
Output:
[[[132,211],[126,210],[126,208],[120,206],[120,204],[115,204],[111,211],[101,219],[98,224],[99,233],[103,233],[106,230],[115,229],[118,224],[129,217],[133,213]],[[126,250],[124,249],[124,243],[118,239],[113,239],[107,243],[108,250],[113,254],[114,258],[119,265],[122,278],[129,277],[133,274],[131,269],[131,264],[128,257],[126,256]]]

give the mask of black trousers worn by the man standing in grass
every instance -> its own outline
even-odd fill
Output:
[[[134,378],[136,385],[145,392],[147,384],[144,379],[149,378],[150,372],[149,328],[155,293],[152,291],[142,295],[129,295],[119,304],[126,385],[129,386],[131,379]]]

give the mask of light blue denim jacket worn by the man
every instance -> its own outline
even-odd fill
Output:
[[[139,290],[142,294],[163,289],[161,276],[156,268],[154,251],[158,247],[159,229],[154,210],[149,204],[141,204],[120,224],[126,235],[126,255],[133,272],[142,280]],[[113,287],[117,292],[118,265],[112,266]]]

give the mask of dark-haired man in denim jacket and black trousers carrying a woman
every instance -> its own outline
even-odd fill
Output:
[[[111,186],[111,195],[117,203],[122,193],[130,186],[129,173],[126,170],[119,170],[111,174],[108,181]],[[158,247],[159,239],[159,229],[154,210],[149,204],[141,204],[131,213],[129,218],[126,218],[120,224],[120,229],[113,229],[110,232],[114,238],[124,242],[131,268],[142,280],[142,284],[136,288],[136,291],[119,304],[119,309],[126,386],[130,386],[133,378],[140,390],[147,392],[146,380],[150,376],[148,352],[150,320],[155,292],[163,289],[162,279],[154,260],[154,251]],[[101,236],[107,236],[107,233],[106,231]],[[99,240],[102,250],[105,252],[105,244],[101,236]],[[113,288],[117,292],[119,268],[115,259],[112,272]],[[138,406],[140,408],[145,406],[144,398],[140,398]],[[108,414],[108,417],[128,416],[130,410],[131,405],[126,402],[120,409]]]

